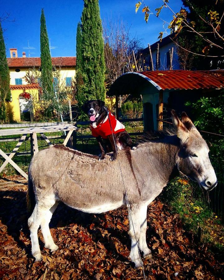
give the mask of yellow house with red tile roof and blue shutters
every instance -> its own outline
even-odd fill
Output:
[[[11,102],[7,102],[10,121],[21,121],[20,112],[27,103],[24,92],[38,97],[38,84],[28,84],[24,78],[31,69],[40,70],[40,57],[26,57],[25,52],[19,58],[17,49],[10,49],[10,58],[7,63],[10,70]],[[76,57],[52,57],[52,65],[56,70],[60,70],[60,81],[54,77],[54,82],[66,86],[71,86],[76,74]],[[57,81],[56,81],[56,80]]]

